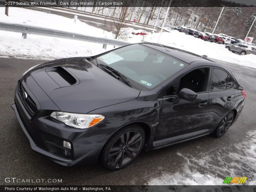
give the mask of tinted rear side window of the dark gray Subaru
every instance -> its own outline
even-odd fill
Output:
[[[221,69],[212,69],[212,85],[211,91],[219,91],[230,89],[233,85],[233,79],[228,76],[228,73]]]

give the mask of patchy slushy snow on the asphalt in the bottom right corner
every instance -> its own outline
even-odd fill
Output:
[[[150,180],[148,184],[222,185],[226,177],[248,177],[245,184],[256,185],[256,131],[249,132],[246,140],[220,148],[217,153],[202,153],[201,158],[177,152],[186,161],[182,172],[167,172]]]

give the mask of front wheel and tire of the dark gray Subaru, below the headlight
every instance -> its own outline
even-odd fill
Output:
[[[123,127],[105,144],[101,153],[101,163],[111,170],[124,168],[140,154],[145,138],[141,126],[134,124]]]

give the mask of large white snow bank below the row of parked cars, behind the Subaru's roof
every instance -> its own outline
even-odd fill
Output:
[[[157,43],[160,33],[146,35],[144,41]],[[160,44],[194,52],[199,55],[207,55],[209,58],[223,60],[238,65],[256,68],[256,55],[238,55],[225,49],[222,44],[211,43],[195,38],[194,36],[180,33],[177,30],[163,32],[159,41]]]

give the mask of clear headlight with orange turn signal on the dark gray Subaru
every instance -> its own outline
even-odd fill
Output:
[[[102,115],[76,114],[66,112],[52,112],[51,117],[78,129],[86,129],[100,123],[105,117]]]

